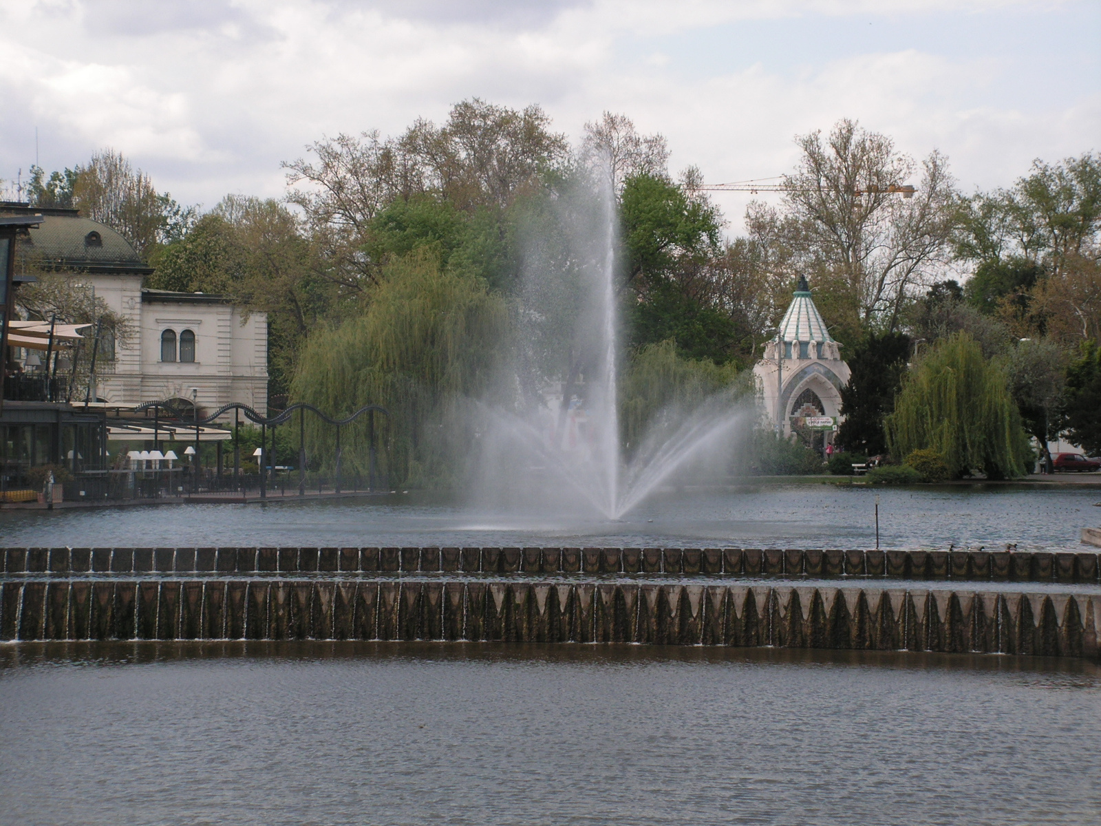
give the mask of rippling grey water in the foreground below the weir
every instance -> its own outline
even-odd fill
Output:
[[[3,824],[1097,824],[1078,661],[0,646]]]

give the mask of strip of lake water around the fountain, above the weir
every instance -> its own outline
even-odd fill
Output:
[[[401,493],[377,499],[0,511],[0,546],[563,545],[1082,550],[1101,490],[774,485],[666,492],[622,521],[493,513]]]

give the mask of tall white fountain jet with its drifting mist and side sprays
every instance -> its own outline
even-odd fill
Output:
[[[557,235],[532,239],[501,382],[515,403],[478,412],[473,498],[513,518],[619,519],[689,466],[724,461],[749,421],[730,394],[667,410],[624,457],[617,198],[609,175],[593,178],[555,202]]]

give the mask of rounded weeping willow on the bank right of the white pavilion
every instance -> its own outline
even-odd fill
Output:
[[[885,425],[894,456],[936,450],[957,478],[973,469],[1018,477],[1032,460],[1004,372],[966,333],[938,343],[911,371]]]

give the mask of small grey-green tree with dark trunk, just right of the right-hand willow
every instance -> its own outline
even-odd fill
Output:
[[[1021,412],[1025,431],[1036,438],[1045,456],[1045,467],[1051,468],[1048,439],[1056,438],[1061,427],[1060,405],[1066,379],[1066,357],[1050,341],[1018,341],[1004,360],[1010,394]]]

